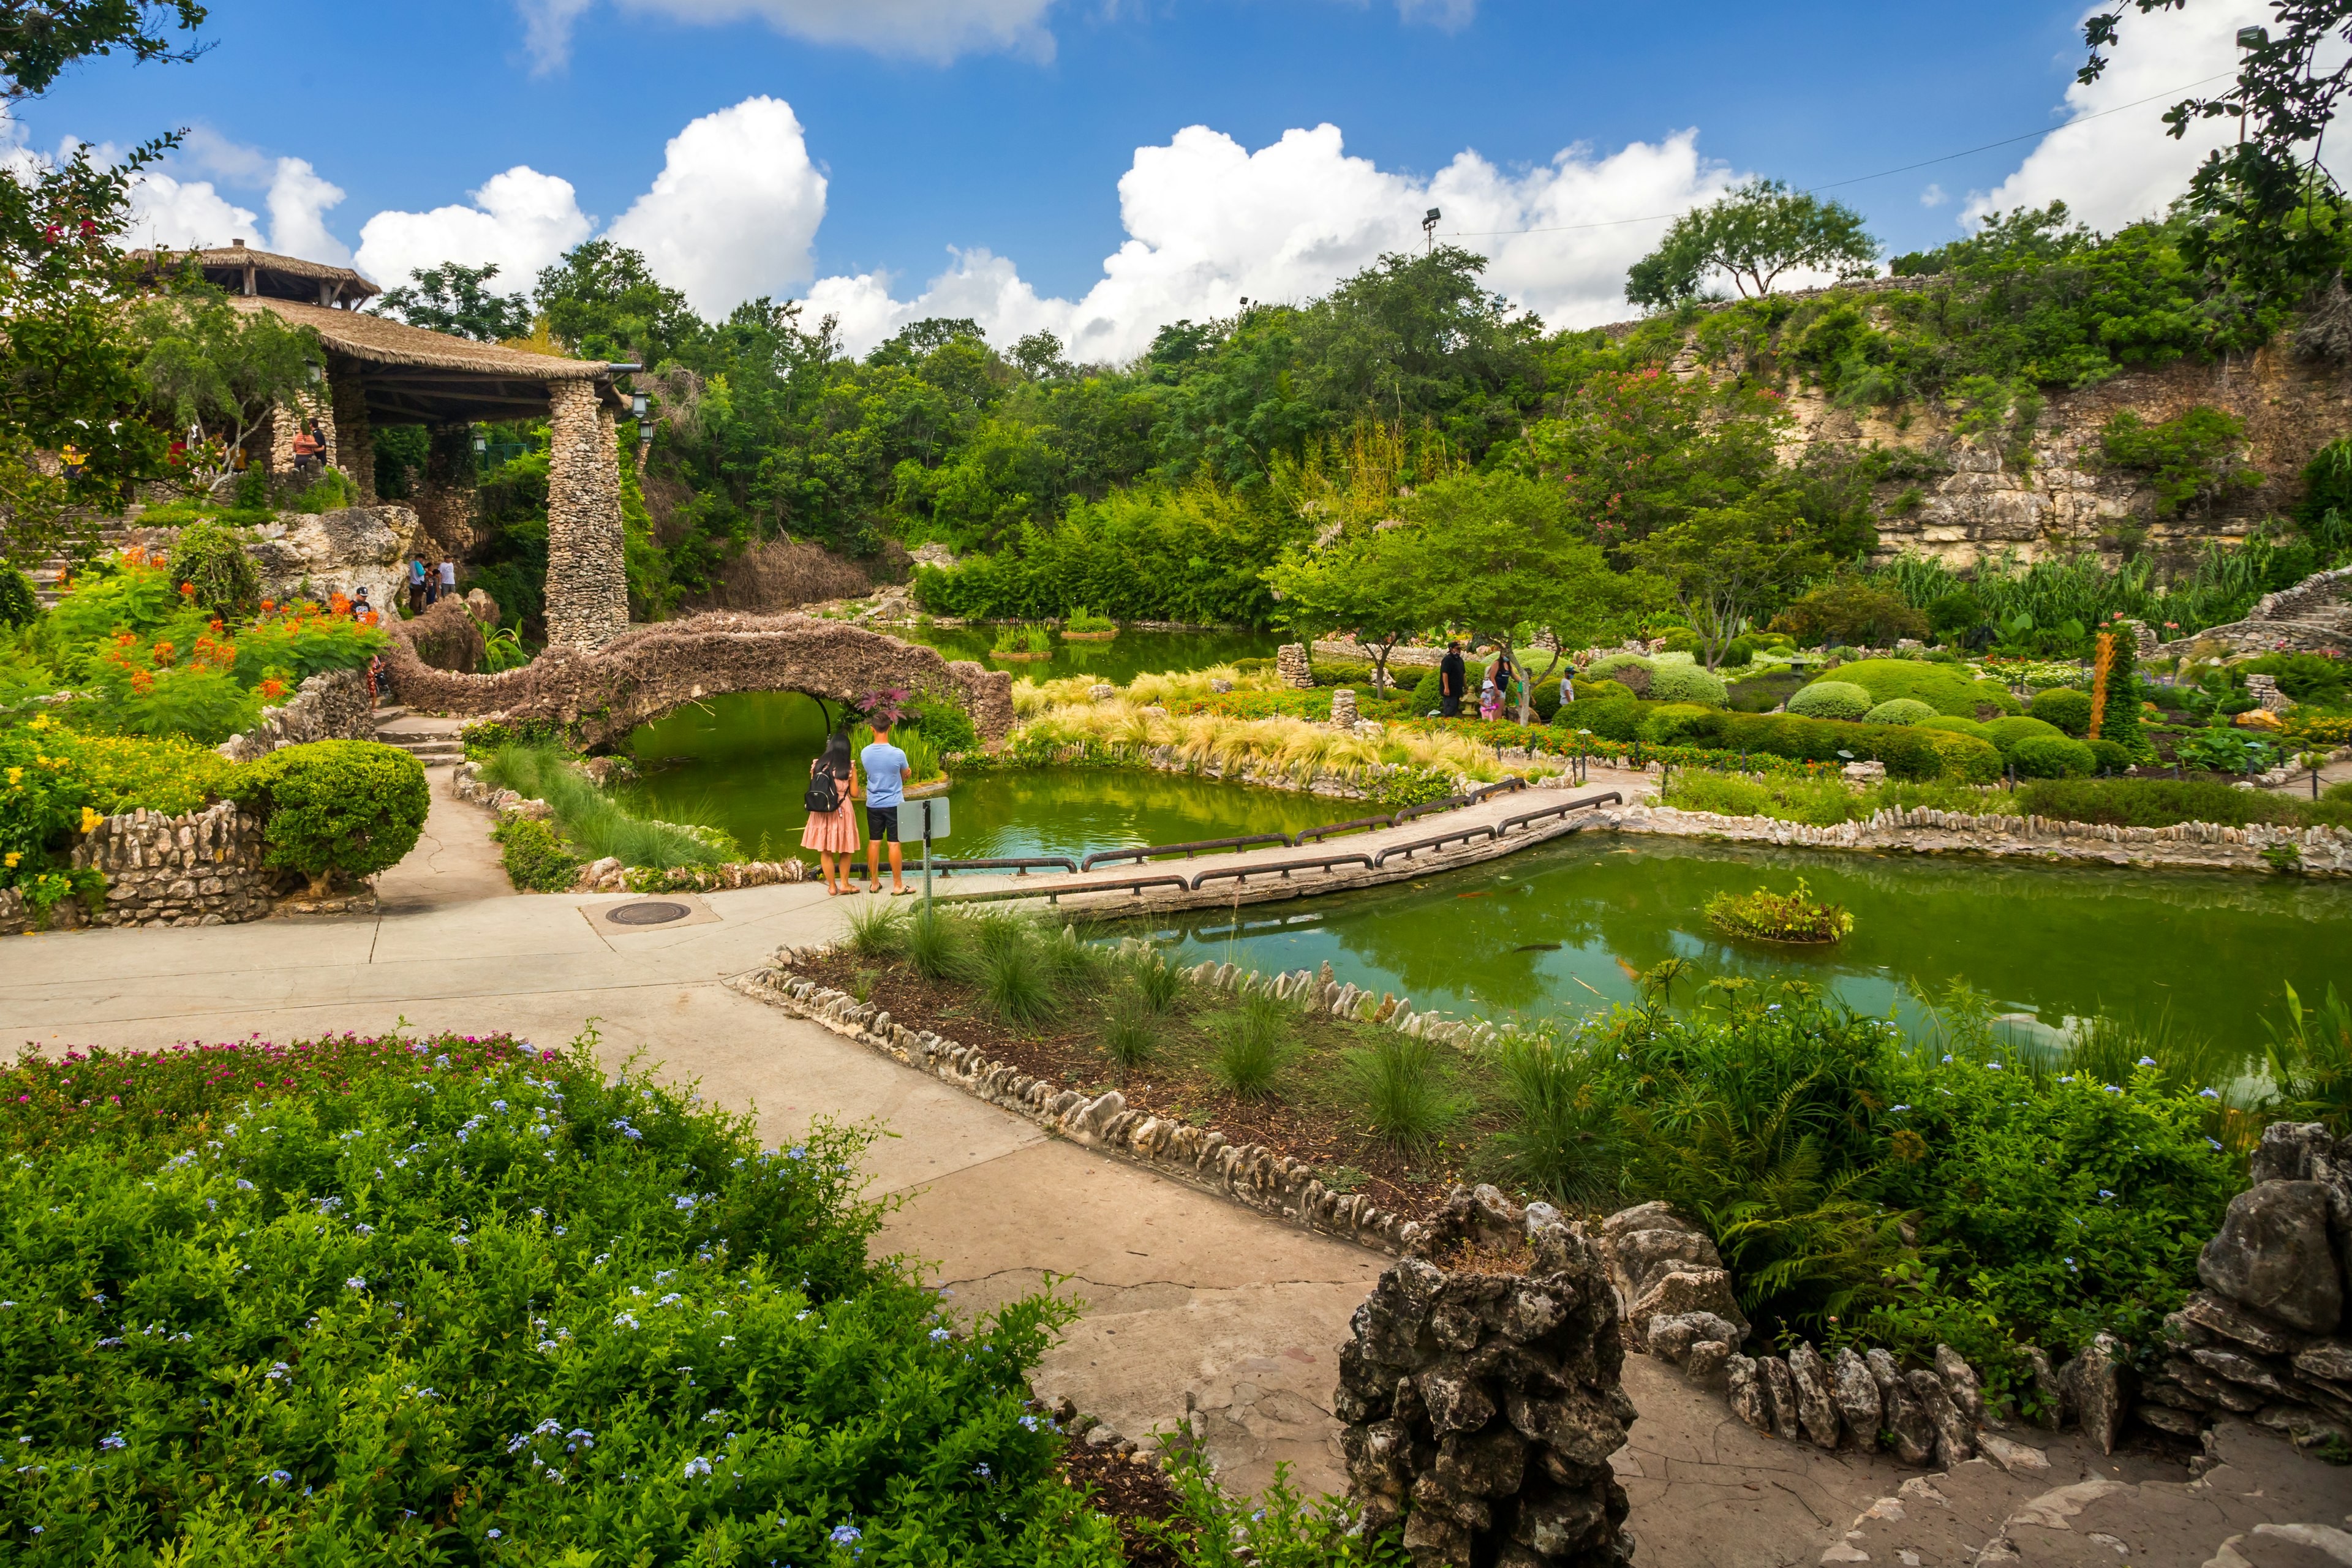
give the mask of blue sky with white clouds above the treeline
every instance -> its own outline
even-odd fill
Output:
[[[706,310],[814,289],[851,336],[953,306],[1115,357],[1148,317],[1319,292],[1416,240],[1421,202],[1446,193],[1468,214],[1446,230],[1562,228],[1675,212],[1736,174],[1842,181],[2223,71],[2241,9],[2260,7],[2145,24],[2114,82],[2070,103],[2082,9],[2025,0],[230,0],[198,63],[85,66],[19,110],[19,136],[49,150],[193,127],[151,193],[167,242],[221,242],[209,230],[242,209],[247,237],[355,249],[379,282],[435,249],[513,277],[642,207],[621,237],[666,242],[656,261]],[[2194,162],[2161,141],[2159,113],[1837,195],[1891,252],[1957,233],[1971,193],[2070,195],[2126,221]],[[694,146],[666,150],[703,118]],[[1319,125],[1338,139],[1247,158]],[[1185,127],[1207,132],[1138,160]],[[1576,176],[1548,174],[1569,148]],[[644,200],[666,167],[675,188]],[[468,193],[508,169],[532,221],[449,212],[482,207]],[[1945,200],[1926,205],[1929,186]],[[421,216],[372,230],[376,214]],[[1609,320],[1625,261],[1661,230],[1475,244],[1550,320]],[[1122,242],[1141,252],[1105,292]]]

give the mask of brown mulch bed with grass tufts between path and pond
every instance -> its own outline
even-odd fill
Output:
[[[1317,1166],[1324,1185],[1369,1192],[1374,1204],[1411,1220],[1435,1213],[1444,1204],[1446,1187],[1470,1180],[1463,1171],[1468,1150],[1501,1128],[1498,1117],[1472,1112],[1428,1154],[1404,1154],[1374,1135],[1350,1093],[1341,1053],[1385,1030],[1343,1023],[1329,1013],[1301,1011],[1301,1051],[1284,1070],[1277,1098],[1244,1100],[1211,1074],[1209,1041],[1200,1020],[1218,1011],[1223,997],[1214,992],[1195,990],[1178,1001],[1169,1013],[1167,1044],[1157,1058],[1122,1077],[1096,1046],[1098,1013],[1084,1004],[1070,1009],[1068,1023],[1030,1032],[995,1018],[976,987],[924,980],[896,959],[837,952],[800,964],[800,973],[889,1009],[889,1016],[910,1030],[934,1030],[962,1046],[976,1046],[1035,1079],[1089,1095],[1117,1088],[1129,1110],[1214,1128],[1232,1143],[1263,1143]]]

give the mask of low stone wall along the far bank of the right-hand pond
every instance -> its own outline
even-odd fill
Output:
[[[1769,816],[1722,816],[1675,806],[1623,806],[1595,811],[1595,827],[1658,832],[1684,839],[1731,839],[1792,849],[1900,849],[1922,856],[1973,853],[2009,860],[2072,860],[2084,865],[2140,865],[2183,870],[2272,872],[2286,858],[2293,870],[2317,877],[2352,875],[2352,830],[2343,827],[2223,827],[2178,823],[2173,827],[2107,827],[2103,823],[2056,823],[2044,816],[1971,816],[1966,811],[1877,811],[1858,823],[1816,827]],[[2291,851],[2291,856],[2288,856]]]

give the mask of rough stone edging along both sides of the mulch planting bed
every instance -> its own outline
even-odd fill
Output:
[[[1343,1241],[1357,1241],[1395,1258],[1402,1258],[1421,1237],[1418,1220],[1378,1208],[1364,1194],[1331,1192],[1315,1175],[1315,1166],[1303,1159],[1279,1154],[1263,1143],[1232,1143],[1214,1128],[1185,1126],[1127,1110],[1127,1095],[1117,1088],[1096,1098],[1087,1098],[1075,1088],[1056,1091],[1044,1079],[1028,1077],[1011,1063],[983,1056],[978,1048],[962,1046],[931,1030],[910,1030],[870,1001],[858,1001],[849,992],[793,973],[790,964],[826,957],[828,952],[826,947],[779,947],[774,964],[729,976],[724,985],[795,1018],[807,1018],[842,1039],[854,1039],[861,1046],[880,1051],[894,1063],[927,1072],[974,1098],[1000,1105],[1080,1147],[1115,1154],[1155,1175],[1167,1175],[1211,1197],[1232,1199],[1275,1220],[1287,1220]],[[1211,971],[1218,978],[1202,978],[1202,971]],[[1183,973],[1190,973],[1195,983],[1218,985],[1218,990],[1240,990],[1247,980],[1261,980],[1254,971],[1242,971],[1247,980],[1232,978],[1230,964],[1202,964]],[[1305,973],[1298,971],[1298,976]],[[1287,994],[1296,994],[1296,976],[1284,976],[1284,980],[1294,980]],[[1261,985],[1270,983],[1261,980]],[[1355,987],[1343,987],[1334,999],[1345,992],[1355,992]],[[1367,1001],[1369,992],[1350,997],[1350,1004],[1359,1011]],[[1392,1027],[1402,1027],[1395,1023],[1399,1018],[1428,1018],[1395,1006],[1392,999],[1385,1004],[1376,1001],[1371,1009],[1383,1013],[1381,1023],[1390,1023]],[[1465,1030],[1458,1023],[1446,1027]],[[1494,1030],[1494,1025],[1477,1027]]]

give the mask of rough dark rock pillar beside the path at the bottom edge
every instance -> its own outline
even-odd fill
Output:
[[[1512,1262],[1479,1267],[1498,1246]],[[1625,1563],[1628,1500],[1609,1469],[1635,1420],[1623,1361],[1609,1272],[1583,1229],[1456,1187],[1341,1347],[1348,1495],[1369,1530],[1404,1521],[1416,1568]]]

